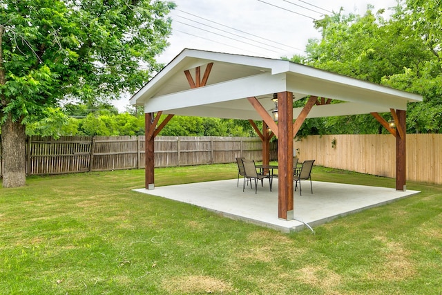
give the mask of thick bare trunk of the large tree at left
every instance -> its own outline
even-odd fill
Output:
[[[26,127],[13,122],[10,114],[1,126],[3,155],[3,187],[24,187],[26,184]]]

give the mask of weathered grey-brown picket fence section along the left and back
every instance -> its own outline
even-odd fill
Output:
[[[276,144],[272,144],[276,155]],[[235,162],[242,156],[262,160],[262,144],[251,137],[155,137],[155,166]],[[28,175],[144,168],[144,136],[28,137]],[[0,150],[0,176],[3,162]]]

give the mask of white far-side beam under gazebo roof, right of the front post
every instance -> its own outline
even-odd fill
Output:
[[[406,110],[407,106],[399,108],[401,110]],[[294,108],[293,115],[294,118],[298,117],[302,108]],[[332,116],[343,116],[343,115],[363,115],[368,113],[386,113],[390,112],[390,108],[383,106],[374,106],[372,104],[360,104],[357,102],[344,102],[342,104],[324,104],[320,106],[313,106],[307,117],[332,117]]]

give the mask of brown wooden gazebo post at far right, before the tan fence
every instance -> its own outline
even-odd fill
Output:
[[[406,169],[407,169],[407,155],[406,155],[406,139],[407,133],[405,132],[405,119],[406,119],[406,111],[396,110],[398,122],[396,123],[398,126],[396,127],[398,130],[402,130],[403,132],[401,136],[396,136],[396,190],[397,191],[406,191]],[[395,118],[396,119],[396,118]]]

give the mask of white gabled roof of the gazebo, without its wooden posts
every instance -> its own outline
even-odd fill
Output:
[[[213,63],[206,85],[191,88],[184,74],[195,70],[203,76]],[[288,91],[294,100],[307,95],[337,99],[343,103],[314,106],[308,117],[385,113],[406,110],[421,95],[330,73],[291,61],[184,49],[160,73],[131,98],[145,113],[198,117],[262,120],[247,97],[256,97],[269,112],[275,107],[273,93]],[[302,108],[294,108],[294,118]]]

